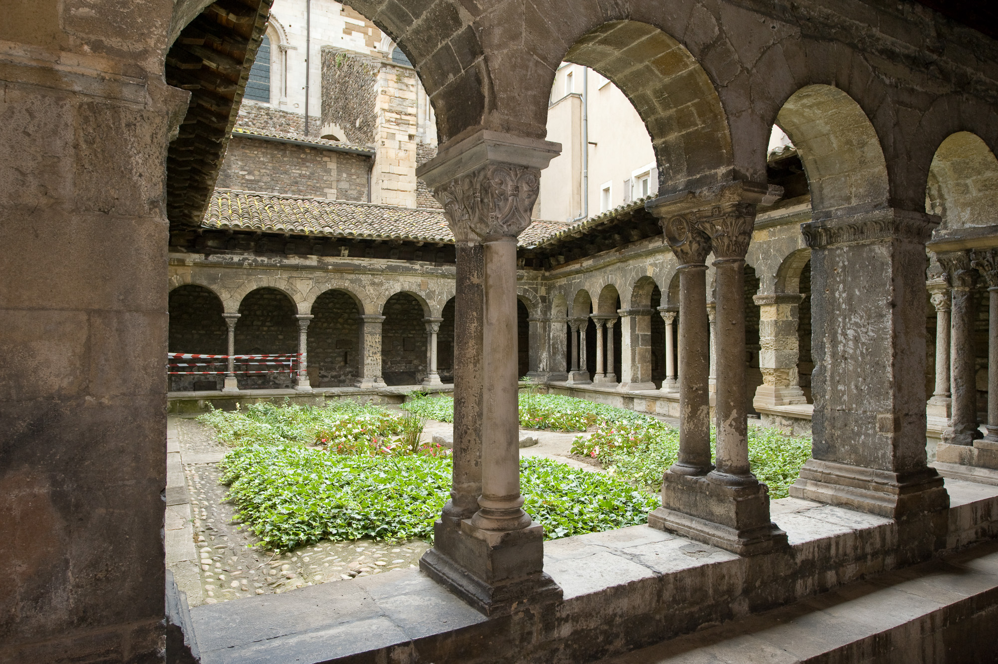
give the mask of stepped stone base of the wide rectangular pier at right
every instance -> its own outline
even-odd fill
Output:
[[[793,498],[895,519],[949,508],[949,495],[942,478],[928,466],[911,473],[892,473],[808,459],[789,493]]]

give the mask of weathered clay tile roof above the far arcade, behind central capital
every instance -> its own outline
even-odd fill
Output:
[[[613,216],[615,208],[598,219]],[[590,219],[592,221],[593,219]],[[365,239],[453,242],[442,210],[378,205],[352,200],[328,200],[273,193],[216,189],[204,226],[260,232],[297,233]],[[536,246],[552,237],[587,226],[558,221],[534,221],[520,234],[520,246]]]

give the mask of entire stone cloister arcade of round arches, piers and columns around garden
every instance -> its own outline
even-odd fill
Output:
[[[405,293],[428,319],[444,318],[453,297],[453,487],[421,564],[492,619],[432,642],[410,639],[405,661],[472,651],[495,661],[592,661],[995,536],[993,520],[958,528],[958,505],[951,509],[925,452],[926,243],[939,264],[930,272],[941,293],[933,306],[949,295],[951,351],[945,357],[939,315],[934,354],[937,370],[950,366],[948,396],[944,371],[933,382],[934,405],[950,399],[945,463],[985,478],[995,451],[991,436],[974,434],[979,362],[967,352],[974,307],[983,311],[977,274],[998,288],[993,39],[908,2],[352,6],[399,45],[432,100],[440,147],[418,174],[443,204],[455,242],[453,276],[436,265],[400,269],[384,297],[367,292],[364,270],[313,289],[297,274],[276,279],[278,286],[253,273],[286,270],[294,262],[286,257],[257,267],[233,261],[230,269],[224,258],[168,255],[168,223],[189,230],[201,223],[266,0],[67,0],[15,8],[0,28],[0,181],[12,183],[0,197],[7,248],[0,554],[16,570],[2,586],[3,657],[164,657],[168,269],[178,292],[210,288],[223,314],[240,314],[223,315],[227,325],[236,320],[235,338],[227,327],[230,346],[243,316],[252,318],[250,306],[258,313],[264,301],[284,312],[268,332],[272,343],[293,349],[287,337],[314,324],[315,303],[346,304],[325,293],[352,293],[358,346],[373,348],[387,338],[389,296]],[[177,42],[206,7],[215,17],[209,37]],[[175,42],[186,52],[168,63]],[[544,141],[545,119],[554,72],[566,59],[596,69],[632,100],[657,155],[659,195],[628,218],[597,217],[518,255],[540,170],[560,149]],[[168,67],[195,82],[187,90],[167,85]],[[769,181],[773,124],[799,154],[809,202],[780,201],[786,188]],[[617,242],[622,230],[628,241]],[[591,269],[597,254],[616,261],[621,278]],[[519,257],[535,269],[518,270]],[[240,283],[216,288],[197,278],[201,271]],[[753,397],[747,293],[754,279],[762,383]],[[795,524],[807,517],[770,510],[749,467],[749,404],[806,396],[799,330],[788,330],[800,320],[808,280],[812,459],[791,496],[820,503],[815,509],[824,513],[845,507],[853,523],[866,524],[862,532],[875,530],[869,537],[845,528],[801,539]],[[603,297],[610,284],[620,300],[612,325],[618,305],[612,291]],[[430,291],[433,298],[421,294]],[[998,333],[996,292],[989,290],[989,341]],[[679,571],[656,568],[599,592],[560,585],[567,577],[545,561],[541,527],[522,509],[518,301],[528,308],[528,334],[547,340],[530,344],[532,371],[558,381],[571,369],[581,379],[592,357],[592,375],[606,378],[613,340],[612,371],[634,392],[656,386],[652,337],[665,341],[678,305],[679,461],[664,478],[663,507],[650,514],[642,545],[667,550],[665,531],[713,545],[712,569],[722,571],[689,567],[692,557],[674,548],[687,565]],[[655,314],[667,314],[657,316],[661,328],[656,302],[665,311]],[[416,323],[425,323],[410,305],[406,322],[418,332]],[[217,313],[218,303],[209,308]],[[264,319],[256,316],[261,326]],[[606,321],[603,371],[600,352],[589,350],[600,336],[597,320]],[[573,324],[578,338],[568,333]],[[221,329],[216,321],[213,343]],[[426,335],[424,327],[413,337],[412,352]],[[578,353],[568,366],[573,340]],[[998,381],[995,352],[998,343],[990,343],[989,383]],[[358,348],[358,356],[358,379],[372,385],[383,368],[373,354]],[[662,365],[671,388],[668,359]],[[299,376],[296,387],[308,382]],[[988,424],[998,426],[998,390],[988,395]],[[276,657],[284,643],[264,645]]]

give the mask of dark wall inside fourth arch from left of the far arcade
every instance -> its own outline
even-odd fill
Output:
[[[388,385],[417,385],[426,377],[423,307],[407,293],[395,293],[381,315],[381,377]],[[438,342],[439,343],[439,342]]]

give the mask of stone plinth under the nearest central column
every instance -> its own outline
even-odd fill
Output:
[[[489,617],[562,599],[561,587],[543,571],[540,523],[496,532],[471,519],[454,520],[437,519],[433,548],[419,559],[419,568],[437,583]]]

